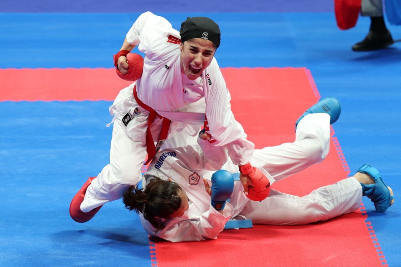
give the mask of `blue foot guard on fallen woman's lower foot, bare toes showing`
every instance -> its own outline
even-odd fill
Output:
[[[377,212],[385,212],[391,204],[391,200],[394,196],[390,195],[390,190],[387,185],[383,182],[379,171],[375,167],[369,164],[365,164],[359,168],[358,173],[365,173],[369,175],[374,181],[374,184],[362,186],[363,196],[369,197],[375,205]]]

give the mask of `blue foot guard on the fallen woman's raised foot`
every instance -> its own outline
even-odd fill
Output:
[[[298,125],[298,122],[300,122],[300,120],[302,120],[304,116],[311,113],[327,113],[330,115],[330,124],[333,124],[338,120],[341,114],[340,101],[338,101],[337,98],[331,96],[323,98],[322,100],[320,100],[319,102],[308,108],[308,110],[306,110],[304,114],[302,114],[302,116],[298,118],[298,120],[295,122],[295,127]]]

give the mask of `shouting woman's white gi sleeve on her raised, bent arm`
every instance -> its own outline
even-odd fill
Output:
[[[128,30],[126,38],[129,44],[139,44],[138,49],[147,58],[162,60],[163,55],[176,49],[176,46],[166,44],[169,34],[179,36],[179,32],[172,28],[170,22],[148,11],[138,17]]]

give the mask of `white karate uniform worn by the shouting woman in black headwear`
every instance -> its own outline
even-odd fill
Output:
[[[205,116],[213,146],[225,146],[236,165],[244,165],[252,156],[254,145],[247,141],[241,124],[231,112],[231,96],[215,58],[200,78],[189,81],[180,67],[180,35],[171,24],[151,12],[141,14],[126,36],[130,44],[145,53],[140,79],[121,90],[109,110],[114,118],[110,164],[89,185],[81,203],[83,212],[122,197],[127,185],[141,179],[146,157],[146,130],[150,112],[133,96],[158,114],[172,120],[164,147],[176,143],[176,134],[188,143],[196,142]],[[155,118],[151,131],[158,141],[162,120]],[[192,139],[192,141],[191,141]]]

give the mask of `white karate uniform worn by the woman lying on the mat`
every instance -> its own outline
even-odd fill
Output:
[[[230,173],[238,173],[238,167],[227,160],[224,147],[212,147],[207,141],[199,145],[203,150],[197,145],[165,149],[152,161],[147,173],[178,183],[188,196],[189,208],[181,217],[163,219],[166,227],[156,234],[156,229],[140,214],[142,226],[149,235],[172,242],[216,239],[225,223],[237,216],[256,224],[303,225],[353,212],[362,200],[362,187],[353,177],[320,187],[304,197],[271,189],[261,202],[249,200],[241,182],[235,181],[230,202],[221,214],[211,206],[202,178],[208,179],[210,185],[214,171],[207,169],[214,169],[221,161],[227,161],[223,169]],[[298,124],[294,143],[257,149],[250,162],[272,184],[319,163],[328,154],[329,146],[330,116],[308,114]]]

